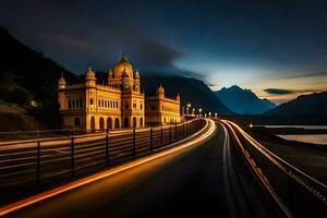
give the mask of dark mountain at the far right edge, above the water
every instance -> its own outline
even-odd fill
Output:
[[[267,112],[268,116],[327,116],[327,92],[302,95]]]

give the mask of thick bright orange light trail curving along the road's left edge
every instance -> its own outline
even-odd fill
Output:
[[[75,182],[71,182],[69,184],[65,184],[65,185],[62,185],[62,186],[59,186],[57,189],[53,189],[53,190],[50,190],[50,191],[47,191],[47,192],[43,192],[40,194],[37,194],[37,195],[34,195],[34,196],[31,196],[31,197],[27,197],[25,199],[22,199],[22,201],[19,201],[19,202],[15,202],[15,203],[12,203],[12,204],[9,204],[9,205],[5,205],[3,207],[0,208],[0,216],[4,216],[4,215],[8,215],[10,213],[13,213],[15,210],[19,210],[19,209],[22,209],[24,207],[27,207],[27,206],[31,206],[33,204],[36,204],[40,201],[44,201],[44,199],[47,199],[47,198],[50,198],[50,197],[53,197],[53,196],[57,196],[61,193],[64,193],[64,192],[68,192],[68,191],[71,191],[73,189],[76,189],[76,187],[81,187],[83,185],[86,185],[86,184],[89,184],[92,182],[95,182],[97,180],[101,180],[104,178],[108,178],[108,177],[111,177],[111,175],[114,175],[117,173],[120,173],[122,171],[125,171],[125,170],[129,170],[129,169],[132,169],[134,167],[137,167],[137,166],[141,166],[143,164],[146,164],[146,162],[149,162],[149,161],[153,161],[155,159],[158,159],[158,158],[161,158],[164,156],[167,156],[167,155],[170,155],[172,153],[175,153],[175,152],[179,152],[181,149],[184,149],[186,147],[190,147],[196,143],[199,143],[204,140],[206,140],[207,137],[211,136],[211,134],[215,132],[216,130],[216,124],[213,120],[206,120],[206,125],[201,130],[198,131],[197,133],[193,134],[194,135],[197,135],[199,132],[203,132],[204,130],[206,130],[207,128],[209,126],[209,129],[203,133],[201,136],[196,137],[195,140],[193,141],[190,141],[190,142],[185,142],[184,144],[181,144],[179,145],[178,147],[172,147],[168,150],[164,150],[161,153],[158,153],[158,154],[154,154],[152,156],[148,156],[148,157],[144,157],[144,158],[141,158],[138,160],[134,160],[132,162],[129,162],[129,164],[125,164],[125,165],[122,165],[122,166],[119,166],[119,167],[116,167],[113,169],[109,169],[109,170],[106,170],[104,172],[99,172],[97,174],[94,174],[94,175],[89,175],[87,178],[84,178],[84,179],[81,179],[81,180],[77,180]],[[192,137],[192,135],[191,135]],[[189,137],[190,138],[190,137]],[[173,145],[177,145],[177,144],[180,144],[181,142],[183,141],[186,141],[187,138],[184,138],[180,142],[177,142],[177,143],[173,143],[171,144],[170,146],[173,146]]]

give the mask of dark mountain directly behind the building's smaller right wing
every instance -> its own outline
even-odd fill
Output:
[[[155,95],[160,84],[165,87],[167,96],[175,97],[177,93],[179,93],[182,106],[184,107],[190,102],[192,108],[202,108],[207,112],[211,111],[218,114],[232,113],[202,81],[182,76],[164,75],[141,77],[141,86],[146,95]]]

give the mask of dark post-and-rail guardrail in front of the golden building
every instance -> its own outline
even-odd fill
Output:
[[[40,184],[94,172],[136,158],[199,131],[206,121],[124,131],[9,142],[0,145],[0,187],[22,183]]]

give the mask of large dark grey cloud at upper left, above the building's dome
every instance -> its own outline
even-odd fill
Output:
[[[134,69],[165,72],[183,56],[130,22],[135,19],[124,11],[104,15],[95,3],[60,1],[9,3],[7,9],[0,17],[10,32],[16,26],[15,37],[75,73],[83,73],[88,65],[107,71],[123,52]]]

